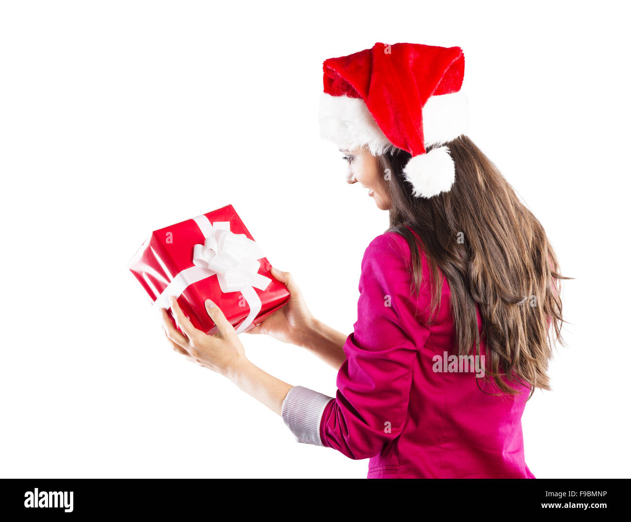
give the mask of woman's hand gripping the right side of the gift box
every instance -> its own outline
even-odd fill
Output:
[[[297,284],[293,281],[292,274],[281,272],[273,268],[272,276],[277,281],[285,284],[291,294],[289,303],[283,308],[276,310],[267,317],[261,324],[252,327],[248,334],[266,334],[274,337],[283,343],[304,346],[304,339],[310,331],[314,329],[315,319],[307,307],[302,293]]]

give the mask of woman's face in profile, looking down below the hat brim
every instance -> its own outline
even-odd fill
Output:
[[[387,181],[384,178],[385,174],[381,172],[379,159],[363,147],[353,150],[339,150],[343,152],[344,159],[348,163],[346,181],[351,184],[360,183],[368,189],[368,195],[374,198],[377,208],[389,210],[391,200]]]

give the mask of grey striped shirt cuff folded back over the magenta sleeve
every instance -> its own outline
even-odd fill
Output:
[[[332,400],[333,397],[302,386],[290,389],[283,401],[281,415],[298,442],[322,446],[320,420],[324,408]]]

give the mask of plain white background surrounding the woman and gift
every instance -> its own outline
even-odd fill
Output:
[[[542,478],[629,476],[623,5],[3,2],[0,475],[365,476],[176,355],[126,264],[151,230],[232,203],[350,332],[387,214],[319,138],[322,61],[416,42],[463,47],[469,136],[576,278],[554,390],[524,413],[526,461]],[[321,361],[241,337],[276,377],[334,394]]]

